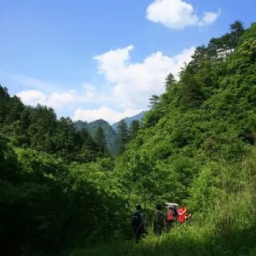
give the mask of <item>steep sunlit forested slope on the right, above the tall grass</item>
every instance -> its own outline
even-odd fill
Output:
[[[241,166],[254,148],[255,36],[256,24],[245,31],[237,21],[195,49],[178,82],[168,76],[166,92],[155,97],[144,128],[118,160],[125,183],[137,180],[132,191],[140,201],[207,208],[222,189],[247,187]]]

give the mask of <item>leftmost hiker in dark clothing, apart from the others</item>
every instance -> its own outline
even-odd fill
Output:
[[[138,243],[146,233],[145,216],[140,205],[137,205],[136,211],[131,216],[131,227],[134,231],[135,241]]]

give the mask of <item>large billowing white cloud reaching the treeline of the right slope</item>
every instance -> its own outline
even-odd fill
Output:
[[[190,61],[195,47],[184,49],[173,57],[158,51],[137,63],[129,62],[131,49],[133,45],[94,58],[98,61],[98,72],[111,83],[112,101],[123,108],[141,109],[148,105],[152,94],[163,92],[168,73],[177,77],[184,62]]]

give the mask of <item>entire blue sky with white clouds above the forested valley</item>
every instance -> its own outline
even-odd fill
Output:
[[[250,24],[255,0],[0,0],[0,83],[73,120],[139,113],[193,50]],[[206,14],[207,12],[207,14]]]

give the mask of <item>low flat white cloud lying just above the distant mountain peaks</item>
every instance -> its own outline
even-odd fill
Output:
[[[73,120],[84,120],[84,121],[94,121],[96,119],[104,119],[112,125],[115,122],[118,122],[120,119],[125,117],[131,117],[144,109],[125,109],[123,112],[115,111],[111,108],[103,106],[99,109],[77,109],[73,114]]]

